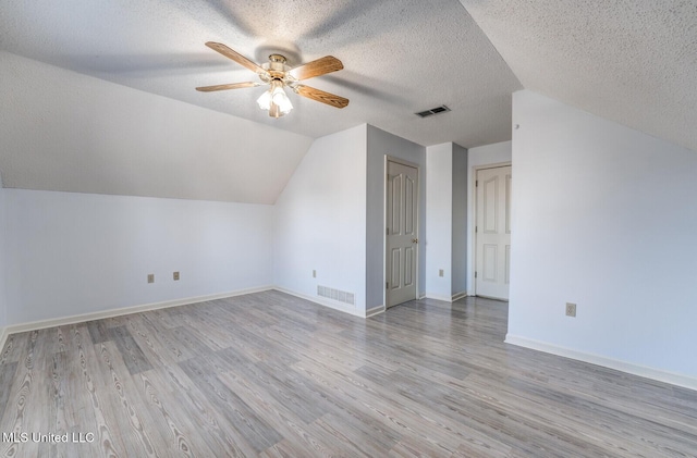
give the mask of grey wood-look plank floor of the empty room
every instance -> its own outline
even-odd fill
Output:
[[[466,298],[364,320],[266,292],[14,334],[0,431],[28,438],[0,451],[697,455],[697,392],[503,344],[506,313]]]

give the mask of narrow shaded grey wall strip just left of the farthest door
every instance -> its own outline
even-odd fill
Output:
[[[453,144],[452,295],[467,293],[467,156]]]

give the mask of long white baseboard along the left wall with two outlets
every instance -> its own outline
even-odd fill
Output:
[[[4,336],[8,334],[21,333],[26,331],[42,330],[46,327],[62,326],[65,324],[83,323],[85,321],[101,320],[105,318],[121,317],[124,314],[139,313],[149,310],[164,309],[169,307],[185,306],[188,304],[205,302],[208,300],[224,299],[228,297],[243,296],[245,294],[260,293],[272,289],[272,286],[259,286],[256,288],[237,289],[229,293],[212,294],[208,296],[187,297],[184,299],[166,300],[162,302],[145,304],[142,306],[122,307],[119,309],[101,310],[98,312],[74,314],[71,317],[52,318],[50,320],[33,321],[29,323],[12,324],[4,329]],[[0,347],[2,348],[2,347]]]

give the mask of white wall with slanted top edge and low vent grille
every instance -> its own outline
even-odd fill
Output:
[[[366,309],[366,125],[316,139],[276,202],[273,277],[314,300],[317,286],[353,293]],[[313,270],[317,277],[313,277]]]

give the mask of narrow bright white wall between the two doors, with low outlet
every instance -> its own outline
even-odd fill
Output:
[[[426,148],[426,296],[452,298],[453,144]],[[443,276],[439,271],[443,270]]]

